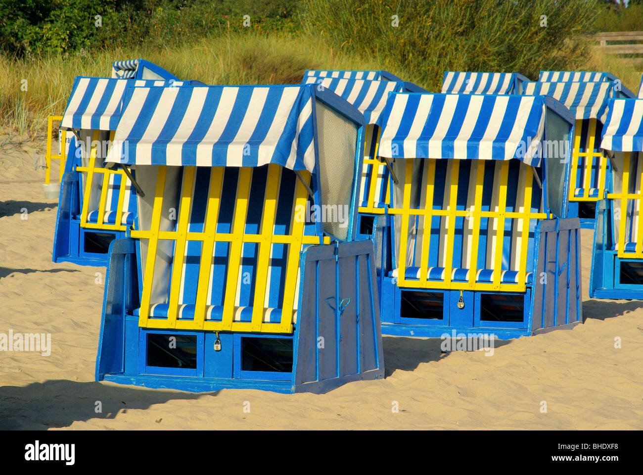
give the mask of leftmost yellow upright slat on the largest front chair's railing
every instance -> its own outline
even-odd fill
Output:
[[[145,274],[143,275],[143,293],[141,295],[141,309],[138,317],[138,326],[145,327],[150,317],[150,298],[152,297],[152,281],[154,280],[154,265],[156,265],[156,248],[159,241],[161,227],[161,211],[163,210],[163,193],[165,192],[165,173],[167,167],[158,167],[156,176],[156,191],[154,192],[154,206],[152,207],[152,224],[150,225],[149,239],[147,241],[147,259],[145,260]],[[158,326],[165,322],[159,321]],[[155,326],[156,322],[155,322]]]

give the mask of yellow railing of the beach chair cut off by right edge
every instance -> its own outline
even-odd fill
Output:
[[[636,176],[637,171],[633,174],[630,173],[631,158],[633,152],[623,153],[623,170],[622,170],[622,185],[620,193],[609,193],[608,199],[615,200],[619,203],[620,207],[617,216],[619,220],[617,251],[618,256],[622,259],[643,259],[643,226],[641,223],[641,203],[643,200],[643,167],[638,163],[637,171],[640,174]],[[642,157],[638,157],[642,160]],[[633,175],[633,176],[631,176]],[[638,178],[638,187],[637,187]],[[634,189],[633,193],[629,189]],[[631,207],[629,206],[631,200]],[[631,213],[628,212],[631,210]],[[636,239],[636,247],[634,251],[626,251],[625,244],[632,239]]]

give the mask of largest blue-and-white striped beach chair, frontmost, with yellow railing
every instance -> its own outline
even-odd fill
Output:
[[[383,377],[374,247],[354,241],[358,109],[315,86],[126,95],[107,161],[143,194],[111,245],[96,379],[292,393]]]

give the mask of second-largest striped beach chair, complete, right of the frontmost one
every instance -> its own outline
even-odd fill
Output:
[[[581,321],[579,220],[568,209],[573,116],[550,97],[392,93],[380,156],[399,184],[385,335],[531,335]],[[563,160],[561,160],[563,158]]]

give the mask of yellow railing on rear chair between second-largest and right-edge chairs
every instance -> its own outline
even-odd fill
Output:
[[[583,120],[576,120],[575,125],[575,135],[574,135],[574,149],[572,149],[572,176],[570,180],[569,188],[569,200],[570,201],[598,201],[603,200],[605,196],[605,180],[607,177],[607,162],[608,158],[604,157],[600,151],[595,151],[595,145],[600,142],[600,136],[597,136],[597,125],[598,122],[595,118],[589,120],[588,130],[586,135],[586,140],[584,145],[585,152],[581,152],[581,135]],[[581,158],[584,158],[584,164],[581,165]],[[590,197],[590,189],[592,187],[592,168],[594,163],[597,163],[598,169],[598,180],[597,180],[597,189],[598,196]],[[580,186],[583,190],[582,196],[576,196],[576,178],[579,174],[582,174],[583,180],[581,180]]]

